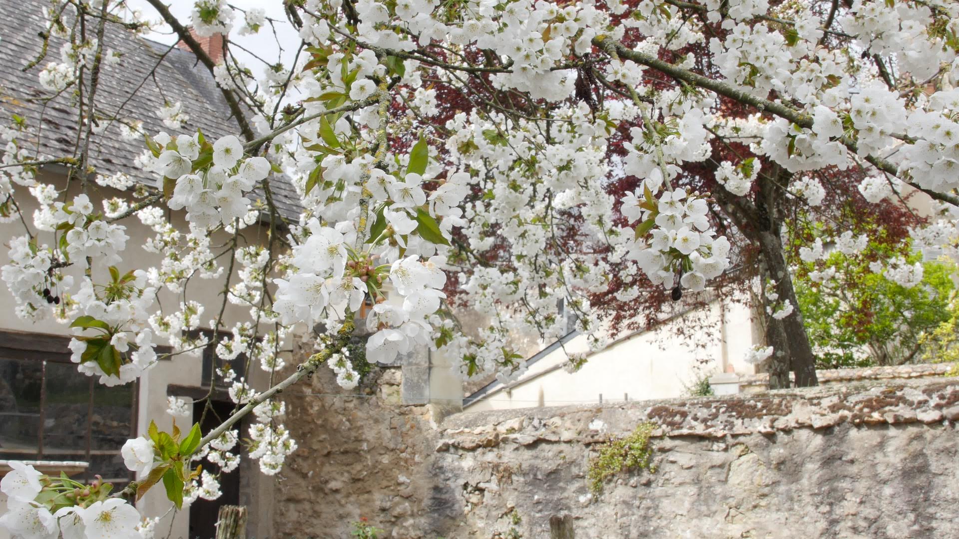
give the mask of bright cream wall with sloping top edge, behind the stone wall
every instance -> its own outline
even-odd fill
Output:
[[[745,363],[746,351],[753,345],[749,309],[737,303],[718,301],[707,307],[709,320],[725,327],[709,340],[705,348],[690,339],[674,337],[677,326],[689,323],[690,316],[677,316],[657,331],[641,332],[613,342],[591,355],[575,373],[562,368],[566,354],[562,348],[529,366],[526,374],[507,388],[501,387],[466,407],[466,411],[502,410],[536,406],[563,406],[575,403],[645,400],[682,396],[695,381],[698,372],[711,374],[734,370],[753,374],[753,365]],[[569,352],[587,351],[586,338],[577,336],[566,344]],[[706,358],[707,363],[698,360]]]

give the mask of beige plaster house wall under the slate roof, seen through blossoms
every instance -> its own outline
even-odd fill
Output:
[[[65,177],[60,175],[43,174],[38,176],[37,179],[40,182],[53,183],[57,185],[58,189],[63,189],[65,185]],[[102,199],[112,198],[115,196],[124,196],[123,193],[113,189],[106,189],[93,183],[90,184],[89,188],[90,199],[93,201],[97,211],[101,212],[103,211],[103,205],[101,203]],[[79,194],[80,192],[79,185],[72,186],[70,189],[69,199],[72,200],[73,196]],[[35,199],[29,196],[23,197],[21,199],[17,199],[17,203],[23,210],[27,222],[31,223],[32,225],[32,216],[36,208]],[[173,223],[178,229],[187,229],[182,212],[169,212],[168,219],[172,219]],[[156,254],[147,252],[142,248],[146,240],[153,236],[152,230],[140,223],[139,219],[137,219],[135,216],[131,216],[124,220],[122,224],[127,226],[127,235],[129,236],[129,240],[127,240],[127,249],[122,255],[124,261],[119,267],[121,273],[126,272],[129,269],[146,269],[151,266],[158,266],[160,257]],[[31,226],[31,231],[36,232],[33,226]],[[265,243],[267,241],[267,231],[267,228],[264,226],[254,225],[246,227],[243,230],[243,235],[246,238],[246,242],[250,244],[257,242]],[[5,239],[3,253],[0,254],[0,260],[2,260],[4,264],[6,264],[9,260],[6,251],[7,247],[9,246],[10,239],[12,239],[13,236],[22,234],[23,224],[19,223],[19,221],[14,223],[0,223],[0,238]],[[220,233],[215,237],[213,245],[224,245],[229,238],[229,235]],[[42,233],[39,237],[39,243],[41,244],[51,244],[52,241],[52,235],[49,233]],[[243,242],[243,240],[241,240],[241,242]],[[215,249],[215,252],[219,251],[220,249]],[[98,265],[96,260],[94,261],[94,282],[103,283],[105,282],[105,279],[108,278],[106,269],[102,266],[103,265]],[[237,282],[238,277],[236,270],[238,269],[239,268],[236,268],[231,275],[231,283]],[[73,274],[78,279],[82,276],[82,269],[77,267],[68,268],[66,271],[69,274]],[[201,327],[208,328],[210,325],[210,320],[216,318],[220,312],[223,299],[222,290],[225,284],[225,278],[225,274],[222,275],[220,279],[197,278],[195,280],[191,280],[186,287],[186,292],[189,298],[199,301],[199,303],[205,308],[202,316],[200,316]],[[172,311],[172,309],[177,307],[179,302],[182,300],[182,297],[182,293],[174,294],[165,290],[161,291],[159,293],[159,300],[160,304],[164,308],[164,312],[169,313]],[[13,303],[14,299],[7,287],[0,286],[0,304],[12,305]],[[222,331],[229,331],[235,322],[246,320],[248,319],[248,316],[248,308],[233,305],[227,302],[223,313],[223,319],[226,327],[221,328]],[[65,324],[60,324],[53,319],[31,322],[17,318],[13,314],[12,308],[0,309],[0,327],[9,330],[52,335],[69,335],[70,333]],[[166,342],[162,340],[157,340],[156,342],[157,344],[166,344]],[[153,367],[143,377],[140,378],[140,406],[137,416],[137,429],[139,434],[146,434],[151,419],[156,422],[157,427],[160,430],[169,432],[173,424],[173,418],[166,413],[167,386],[199,386],[201,369],[202,363],[199,356],[192,357],[188,355],[178,355],[168,361],[159,362],[155,367]],[[249,365],[248,376],[250,377],[249,379],[253,387],[260,389],[265,388],[269,381],[269,374],[260,369],[259,364],[251,363]],[[184,419],[182,422],[185,424],[186,420]],[[255,468],[255,466],[252,467],[252,469]],[[259,474],[259,472],[256,473]],[[254,481],[258,480],[259,478]],[[254,484],[256,483],[254,482]],[[263,501],[263,503],[267,502],[267,500]],[[171,538],[185,539],[187,537],[187,531],[189,528],[189,511],[186,507],[184,507],[184,510],[180,512],[168,511],[170,506],[171,504],[166,499],[162,485],[157,488],[153,488],[137,504],[137,507],[145,516],[153,517],[166,515],[157,526],[158,532],[161,529],[163,530],[162,536],[166,537],[167,532],[172,530],[172,533],[170,534]],[[171,519],[175,521],[173,522],[173,527],[171,527]],[[3,535],[0,535],[0,539],[6,538]]]

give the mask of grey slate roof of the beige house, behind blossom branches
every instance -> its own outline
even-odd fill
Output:
[[[40,152],[55,157],[70,156],[77,134],[77,109],[71,104],[71,91],[63,92],[46,106],[35,99],[52,95],[40,85],[37,74],[47,62],[60,61],[63,40],[52,37],[46,58],[28,71],[22,71],[40,54],[43,39],[37,34],[46,26],[41,9],[49,4],[40,0],[2,0],[2,3],[0,121],[9,124],[12,114],[17,114],[26,117],[29,125],[35,127],[42,118]],[[104,41],[105,51],[123,54],[119,63],[104,66],[97,89],[98,108],[105,116],[141,120],[148,133],[192,133],[199,128],[210,139],[230,133],[239,135],[240,129],[231,118],[216,82],[192,52],[170,50],[169,45],[135,35],[117,24],[106,25]],[[155,82],[150,76],[154,66]],[[190,116],[181,129],[167,128],[157,116],[157,110],[165,102],[182,103],[183,110]],[[145,148],[142,140],[122,138],[120,124],[114,122],[91,139],[90,164],[101,174],[123,172],[156,187],[158,178],[133,164],[133,159]],[[274,178],[270,188],[280,212],[295,220],[300,212],[299,197],[289,178]],[[249,195],[254,200],[262,197],[259,192]]]

